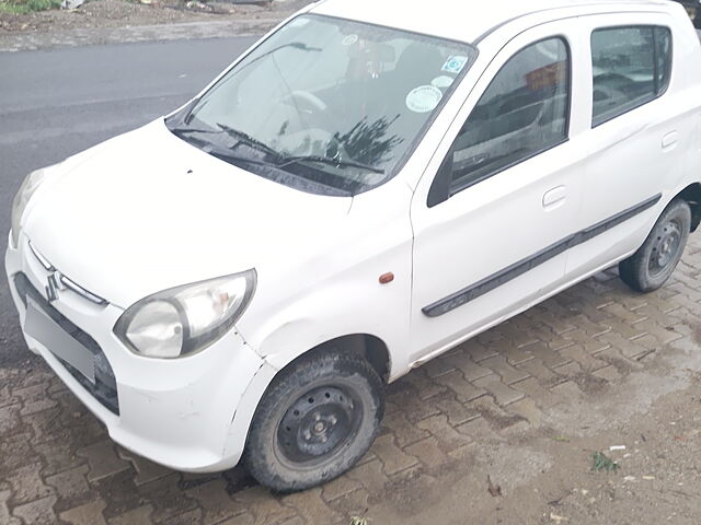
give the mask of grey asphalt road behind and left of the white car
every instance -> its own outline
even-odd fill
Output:
[[[10,205],[32,170],[175,109],[254,38],[0,54],[0,253]],[[25,350],[0,272],[0,366]]]

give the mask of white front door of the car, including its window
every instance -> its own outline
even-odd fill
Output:
[[[540,26],[498,52],[417,187],[413,363],[563,282],[585,161],[571,118],[582,57],[566,27]]]

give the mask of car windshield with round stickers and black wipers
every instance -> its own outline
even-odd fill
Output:
[[[356,195],[402,167],[475,56],[468,44],[301,15],[166,125],[257,175]]]

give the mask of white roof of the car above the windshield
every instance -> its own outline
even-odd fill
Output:
[[[322,0],[311,12],[474,43],[506,22],[530,15],[556,19],[556,10],[668,11],[669,0],[498,0],[493,8],[464,0]]]

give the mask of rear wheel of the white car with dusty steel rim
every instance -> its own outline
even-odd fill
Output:
[[[690,232],[689,203],[682,199],[673,200],[640,249],[619,264],[623,282],[644,293],[660,288],[681,260]]]

